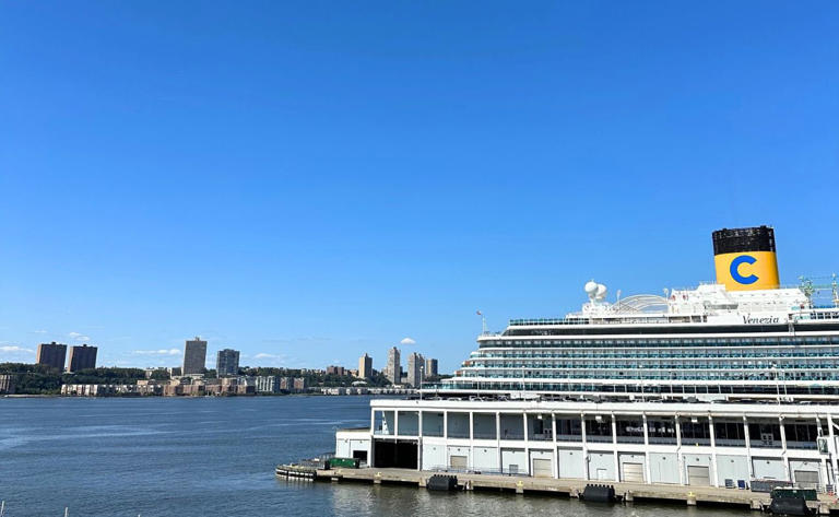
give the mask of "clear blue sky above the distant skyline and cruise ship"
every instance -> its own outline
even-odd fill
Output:
[[[457,367],[481,329],[839,270],[836,2],[0,3],[0,361]]]

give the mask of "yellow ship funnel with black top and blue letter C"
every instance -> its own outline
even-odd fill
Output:
[[[728,291],[778,289],[775,230],[722,228],[711,234],[717,283]]]

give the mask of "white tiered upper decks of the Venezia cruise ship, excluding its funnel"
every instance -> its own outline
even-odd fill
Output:
[[[839,392],[839,309],[800,287],[590,299],[558,319],[512,319],[486,332],[439,390],[605,398],[829,397]]]

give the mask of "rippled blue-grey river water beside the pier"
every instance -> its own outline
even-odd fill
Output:
[[[0,399],[7,516],[728,517],[683,506],[592,506],[554,496],[429,493],[274,478],[368,423],[367,397]],[[675,515],[680,514],[680,515]]]

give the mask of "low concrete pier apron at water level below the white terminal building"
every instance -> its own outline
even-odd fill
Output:
[[[404,484],[425,487],[436,471],[410,469],[321,469],[317,470],[315,479],[331,482],[366,482],[374,484]],[[449,472],[457,475],[458,486],[466,491],[509,491],[517,494],[557,494],[578,498],[587,484],[596,482],[584,480],[531,478],[519,475],[498,475],[483,473]],[[687,506],[716,505],[737,506],[753,510],[766,510],[771,502],[768,493],[752,492],[751,490],[722,489],[716,486],[684,486],[670,484],[641,484],[601,482],[614,486],[616,497],[623,503],[634,502],[670,502],[684,503]],[[839,513],[839,502],[835,496],[819,494],[818,501],[807,503],[815,515]]]

